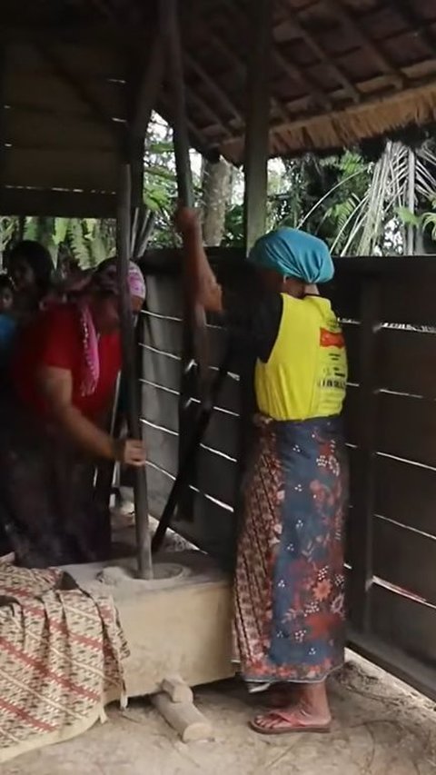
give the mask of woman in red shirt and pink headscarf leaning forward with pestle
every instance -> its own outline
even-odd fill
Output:
[[[136,315],[145,285],[134,263],[129,286]],[[18,339],[12,390],[0,406],[0,521],[21,564],[97,559],[95,462],[144,465],[142,442],[120,442],[104,430],[121,368],[118,329],[109,260],[74,302],[41,313]]]

